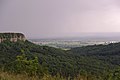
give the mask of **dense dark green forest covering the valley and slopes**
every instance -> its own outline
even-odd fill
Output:
[[[26,57],[22,55],[23,52]],[[16,62],[18,64],[13,65]],[[36,67],[38,65],[39,67]],[[37,73],[36,69],[41,67],[40,72],[43,71],[41,72],[43,75],[47,70],[46,74],[52,76],[59,74],[70,79],[82,75],[87,80],[119,80],[120,43],[78,47],[64,51],[35,45],[29,41],[2,42],[0,44],[1,69],[10,70],[15,67],[16,70],[20,71],[19,69],[23,68],[20,66],[23,66],[24,70],[33,71],[35,74]]]

